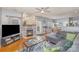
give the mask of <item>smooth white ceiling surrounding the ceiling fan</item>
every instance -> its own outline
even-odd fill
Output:
[[[79,16],[79,7],[49,7],[45,14],[41,14],[36,8],[41,7],[6,7],[8,9],[14,9],[19,12],[24,12],[29,15],[46,16],[49,18],[59,16]]]

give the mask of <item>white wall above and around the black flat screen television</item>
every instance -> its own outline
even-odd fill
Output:
[[[21,13],[12,9],[0,8],[0,26],[5,25],[21,25]],[[2,34],[0,29],[0,37]],[[21,28],[20,28],[21,30]],[[20,31],[21,32],[21,31]],[[1,41],[1,39],[0,39]],[[1,43],[0,43],[1,44]],[[1,46],[1,45],[0,45]]]

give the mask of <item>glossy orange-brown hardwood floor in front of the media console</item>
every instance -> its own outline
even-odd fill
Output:
[[[0,52],[15,52],[15,51],[23,48],[23,43],[25,41],[30,40],[31,38],[33,38],[33,37],[23,37],[22,39],[14,42],[13,44],[0,48]]]

